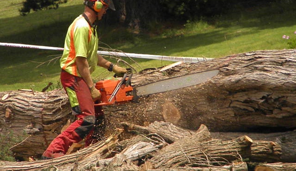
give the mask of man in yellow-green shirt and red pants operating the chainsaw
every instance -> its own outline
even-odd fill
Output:
[[[84,0],[85,10],[69,26],[65,46],[60,59],[61,83],[76,116],[65,131],[52,140],[42,159],[63,156],[74,142],[86,137],[95,123],[94,103],[101,95],[90,74],[96,66],[115,72],[118,76],[127,72],[97,54],[98,35],[93,23],[101,20],[107,9],[115,10],[112,0]]]

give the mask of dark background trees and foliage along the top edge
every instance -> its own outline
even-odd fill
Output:
[[[113,0],[116,11],[109,11],[101,22],[132,29],[147,29],[151,25],[155,26],[153,23],[207,20],[231,11],[270,5],[275,1],[291,5],[296,3],[293,0]],[[67,0],[26,0],[20,13],[26,15],[31,9],[56,9],[60,3],[65,2]]]

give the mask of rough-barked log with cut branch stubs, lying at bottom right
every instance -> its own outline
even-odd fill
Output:
[[[197,141],[196,141],[197,140]],[[227,150],[226,150],[227,149]],[[189,136],[160,150],[152,159],[154,168],[198,165],[200,162],[218,163],[250,158],[254,162],[277,162],[281,148],[277,143],[254,141],[247,136],[222,141],[200,142]]]

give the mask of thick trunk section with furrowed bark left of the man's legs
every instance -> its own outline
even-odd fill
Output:
[[[61,90],[0,92],[0,135],[23,141],[11,150],[17,157],[40,156],[69,118],[71,108]],[[34,148],[32,148],[34,146]]]

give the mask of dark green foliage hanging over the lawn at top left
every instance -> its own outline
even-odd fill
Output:
[[[26,0],[23,7],[19,10],[21,15],[27,15],[31,9],[39,11],[43,9],[57,9],[60,3],[66,3],[67,0]]]

